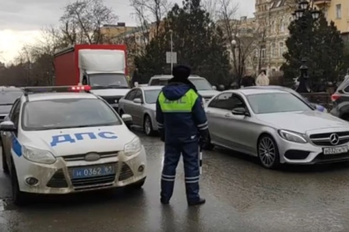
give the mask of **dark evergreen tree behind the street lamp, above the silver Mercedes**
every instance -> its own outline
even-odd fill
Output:
[[[300,61],[307,59],[313,91],[324,83],[336,83],[344,71],[344,43],[333,22],[328,25],[324,14],[314,22],[311,12],[292,22],[286,40],[286,62],[281,69],[287,83],[299,76]]]

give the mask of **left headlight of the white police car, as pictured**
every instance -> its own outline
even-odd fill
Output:
[[[53,164],[56,161],[55,156],[50,151],[40,150],[34,147],[22,146],[22,154],[27,160],[40,164]]]

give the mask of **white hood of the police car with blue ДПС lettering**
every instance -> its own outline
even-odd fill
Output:
[[[23,137],[23,145],[51,151],[58,157],[88,152],[122,151],[125,144],[136,136],[125,125],[120,125],[42,130],[23,133]]]

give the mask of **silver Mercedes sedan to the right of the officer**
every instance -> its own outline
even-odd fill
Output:
[[[269,169],[281,163],[349,160],[349,124],[315,111],[305,100],[278,89],[222,91],[205,109],[211,143],[257,156]]]

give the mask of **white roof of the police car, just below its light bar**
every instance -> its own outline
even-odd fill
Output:
[[[55,100],[55,99],[78,99],[78,98],[85,98],[85,99],[98,99],[97,96],[95,96],[92,93],[32,93],[28,94],[27,96],[23,96],[22,98],[28,98],[29,102],[34,101],[42,101],[42,100]]]

